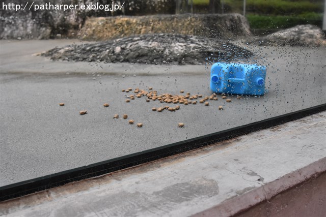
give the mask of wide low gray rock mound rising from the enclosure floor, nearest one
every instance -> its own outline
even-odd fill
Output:
[[[54,48],[42,55],[66,61],[183,65],[241,60],[253,56],[253,53],[220,39],[150,34]]]

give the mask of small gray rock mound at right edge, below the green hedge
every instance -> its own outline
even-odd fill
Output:
[[[259,45],[271,46],[321,46],[326,45],[322,31],[314,25],[296,25],[292,28],[259,37],[256,40]]]

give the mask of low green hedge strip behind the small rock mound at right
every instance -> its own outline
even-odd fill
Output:
[[[276,29],[288,28],[299,24],[313,24],[321,26],[322,14],[305,13],[298,16],[246,16],[251,28],[255,29]]]

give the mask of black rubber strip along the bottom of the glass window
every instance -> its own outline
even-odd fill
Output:
[[[78,167],[39,178],[9,184],[0,187],[0,201],[21,197],[35,192],[58,187],[72,181],[91,178],[106,173],[118,171],[128,167],[140,165],[150,161],[158,160],[181,152],[207,146],[216,142],[228,140],[237,136],[245,135],[262,129],[275,127],[282,123],[296,120],[311,114],[326,110],[326,104],[291,112],[277,117],[250,123],[248,125],[208,134],[205,136],[188,139],[181,142],[128,154],[123,157],[102,161],[84,167]]]

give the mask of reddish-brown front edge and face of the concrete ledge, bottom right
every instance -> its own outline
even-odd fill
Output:
[[[326,206],[324,206],[324,202],[320,203],[320,201],[326,201],[325,178],[326,158],[323,158],[275,181],[262,185],[255,190],[227,200],[193,216],[231,216],[235,214],[236,216],[266,216],[268,212],[268,216],[323,216],[322,214],[326,213]],[[308,204],[304,203],[304,197],[307,198],[308,195],[306,193],[304,196],[300,195],[301,197],[292,196],[292,198],[285,198],[282,201],[284,204],[279,202],[280,198],[278,197],[288,192],[293,194],[293,191],[297,191],[297,188],[302,188],[300,185],[318,188],[319,191],[308,192],[310,196],[315,196],[318,199],[313,201],[309,198]],[[304,188],[307,188],[307,186]],[[313,193],[314,195],[312,195]],[[278,202],[279,204],[274,205],[272,201],[274,204]],[[293,201],[295,201],[294,204]],[[304,208],[298,209],[298,207]]]

